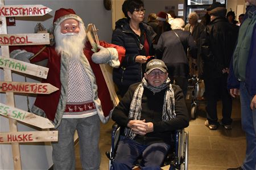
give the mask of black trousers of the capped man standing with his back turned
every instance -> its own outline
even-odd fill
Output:
[[[205,78],[205,91],[207,91],[207,119],[210,125],[217,125],[217,101],[222,100],[222,123],[232,124],[232,97],[227,89],[228,74],[222,74],[220,78]]]

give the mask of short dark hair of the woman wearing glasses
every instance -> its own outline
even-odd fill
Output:
[[[129,11],[133,14],[135,9],[139,9],[141,7],[144,7],[144,3],[141,0],[126,0],[123,2],[122,11],[123,14],[125,14],[125,17],[130,19],[127,12]]]

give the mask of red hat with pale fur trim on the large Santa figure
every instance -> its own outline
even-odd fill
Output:
[[[84,22],[82,22],[82,19],[76,15],[76,12],[74,10],[72,10],[71,8],[60,8],[59,10],[55,11],[53,25],[57,27],[66,19],[76,19],[78,22],[84,24]]]

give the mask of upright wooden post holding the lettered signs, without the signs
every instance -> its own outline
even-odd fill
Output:
[[[3,6],[4,2],[1,0],[0,6]],[[1,34],[7,33],[7,27],[6,27],[6,18],[0,17],[0,20],[2,22],[1,24]],[[9,56],[9,46],[1,46],[1,52],[3,56],[10,57]],[[11,77],[11,70],[9,69],[3,69],[5,81],[13,81],[13,78]],[[7,92],[6,93],[6,104],[14,107],[14,95],[13,92]],[[10,132],[16,132],[18,131],[17,128],[17,122],[13,118],[9,118],[9,128]],[[14,163],[14,169],[22,169],[21,160],[20,160],[20,150],[19,150],[19,143],[11,143],[11,148],[13,151],[13,163]]]

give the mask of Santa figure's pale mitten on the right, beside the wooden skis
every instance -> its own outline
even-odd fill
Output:
[[[119,67],[118,53],[115,48],[104,48],[98,45],[100,51],[92,54],[94,63],[108,63],[112,67]]]

